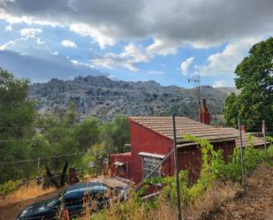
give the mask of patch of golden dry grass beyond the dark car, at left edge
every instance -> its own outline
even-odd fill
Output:
[[[19,190],[7,195],[4,199],[0,199],[0,207],[19,201],[26,201],[45,193],[51,193],[55,190],[56,189],[53,187],[42,189],[42,186],[37,186],[35,183],[31,183],[28,186],[21,186]]]

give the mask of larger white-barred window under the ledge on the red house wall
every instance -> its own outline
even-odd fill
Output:
[[[142,174],[143,178],[147,178],[148,174],[155,169],[155,167],[161,163],[162,159],[152,156],[142,156]],[[159,167],[150,178],[161,178],[161,168]]]

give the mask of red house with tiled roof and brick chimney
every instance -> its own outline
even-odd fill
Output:
[[[202,102],[202,105],[205,102]],[[205,106],[204,106],[205,107]],[[140,183],[148,176],[158,163],[173,148],[171,117],[129,117],[131,125],[131,152],[110,156],[111,175],[131,179]],[[202,122],[209,124],[207,108],[201,108]],[[184,139],[185,134],[201,137],[214,146],[224,150],[224,158],[232,154],[233,148],[239,145],[238,130],[218,128],[199,123],[189,118],[177,117],[178,168],[188,170],[189,177],[198,178],[201,170],[201,150],[194,142]],[[258,145],[262,141],[254,138]],[[243,133],[243,144],[246,146],[246,133]],[[166,177],[174,174],[174,157],[170,156],[152,177]]]

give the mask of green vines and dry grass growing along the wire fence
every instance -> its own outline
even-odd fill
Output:
[[[238,183],[241,182],[239,150],[236,148],[233,156],[226,163],[224,162],[223,151],[214,150],[208,140],[202,140],[193,136],[186,136],[186,139],[198,143],[202,154],[201,175],[196,183],[189,181],[188,171],[180,171],[179,173],[180,194],[181,201],[183,201],[182,210],[185,215],[189,215],[188,212],[190,212],[190,215],[195,215],[193,219],[197,219],[196,216],[201,215],[201,213],[198,213],[198,209],[207,206],[216,209],[216,202],[219,202],[219,200],[223,202],[224,199],[229,198],[228,196],[235,196],[235,193],[237,193]],[[271,141],[271,145],[268,148],[268,159],[265,157],[263,149],[254,148],[253,145],[245,148],[246,175],[254,171],[259,163],[271,164],[269,161],[273,159],[273,142],[272,139],[269,141]],[[145,193],[149,185],[158,183],[163,184],[163,190],[155,201],[141,201],[139,197],[141,193]],[[102,210],[95,216],[92,216],[92,219],[174,218],[176,216],[175,207],[177,202],[175,178],[149,178],[146,179],[145,184],[146,186],[143,186],[139,193],[133,194],[129,201],[113,204],[110,209]]]

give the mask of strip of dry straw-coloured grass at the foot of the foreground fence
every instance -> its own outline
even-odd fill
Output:
[[[193,220],[200,219],[206,213],[213,209],[218,209],[224,201],[235,197],[239,192],[239,185],[228,183],[216,183],[216,185],[207,190],[201,197],[197,198],[192,205],[182,208],[183,219]],[[134,199],[129,199],[123,203],[114,203],[110,209],[104,210],[103,214],[95,217],[85,216],[84,219],[109,219],[109,220],[167,220],[176,219],[177,211],[171,206],[167,198],[161,198],[157,201],[157,208],[151,208],[147,203],[138,204]]]

